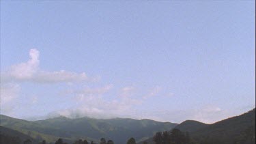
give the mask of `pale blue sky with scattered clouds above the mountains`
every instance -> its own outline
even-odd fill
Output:
[[[1,1],[1,114],[214,123],[255,107],[255,1]]]

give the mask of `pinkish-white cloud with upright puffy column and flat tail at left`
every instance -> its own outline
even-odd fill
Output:
[[[96,81],[99,77],[88,78],[85,72],[67,72],[65,70],[47,72],[40,70],[40,52],[36,49],[29,51],[29,61],[11,66],[7,72],[1,72],[1,82],[23,82],[33,83],[72,83],[79,81]]]

